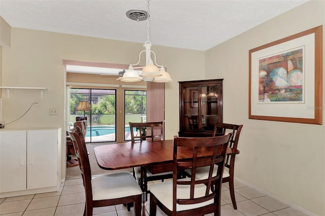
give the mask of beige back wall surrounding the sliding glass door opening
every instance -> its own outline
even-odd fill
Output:
[[[39,90],[12,89],[10,97],[3,91],[3,121],[21,119],[6,128],[62,127],[64,131],[64,66],[62,59],[130,64],[138,61],[143,44],[81,37],[22,28],[11,29],[11,47],[3,48],[3,86],[45,87],[43,99]],[[166,138],[178,132],[178,81],[204,77],[204,52],[152,46],[157,63],[167,67],[173,82],[166,84]],[[143,63],[142,63],[143,64]],[[121,85],[127,83],[120,82]],[[145,85],[142,82],[141,85]],[[50,107],[57,107],[58,115],[50,116]],[[176,107],[176,109],[175,109]],[[65,136],[62,133],[62,143]],[[62,148],[65,151],[65,148]],[[62,152],[62,177],[65,175],[65,153]]]

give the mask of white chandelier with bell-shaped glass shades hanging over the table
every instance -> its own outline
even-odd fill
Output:
[[[144,11],[136,11],[130,10],[126,12],[126,15],[133,20],[145,20],[147,19],[147,41],[144,43],[145,50],[141,51],[139,54],[139,61],[136,64],[130,64],[128,69],[123,74],[122,78],[117,80],[121,80],[123,82],[138,82],[138,81],[145,81],[145,82],[157,82],[157,83],[166,83],[171,82],[171,76],[165,71],[165,67],[163,65],[159,65],[156,62],[156,54],[151,50],[151,42],[149,41],[149,17],[150,17],[150,6],[149,0],[147,0],[147,9],[148,11],[143,13]],[[146,53],[146,66],[137,66],[141,60],[141,54]],[[154,57],[154,63],[151,58],[151,54]],[[158,68],[159,67],[159,68]],[[138,72],[134,69],[142,68],[141,75],[139,76]]]

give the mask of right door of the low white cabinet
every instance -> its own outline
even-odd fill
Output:
[[[27,189],[57,185],[57,130],[27,131]]]

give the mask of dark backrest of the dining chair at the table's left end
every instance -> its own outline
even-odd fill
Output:
[[[68,130],[68,134],[76,150],[83,186],[86,192],[86,200],[92,200],[91,170],[84,136],[79,127]]]

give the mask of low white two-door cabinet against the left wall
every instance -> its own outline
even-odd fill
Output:
[[[60,130],[0,131],[0,197],[58,190]]]

